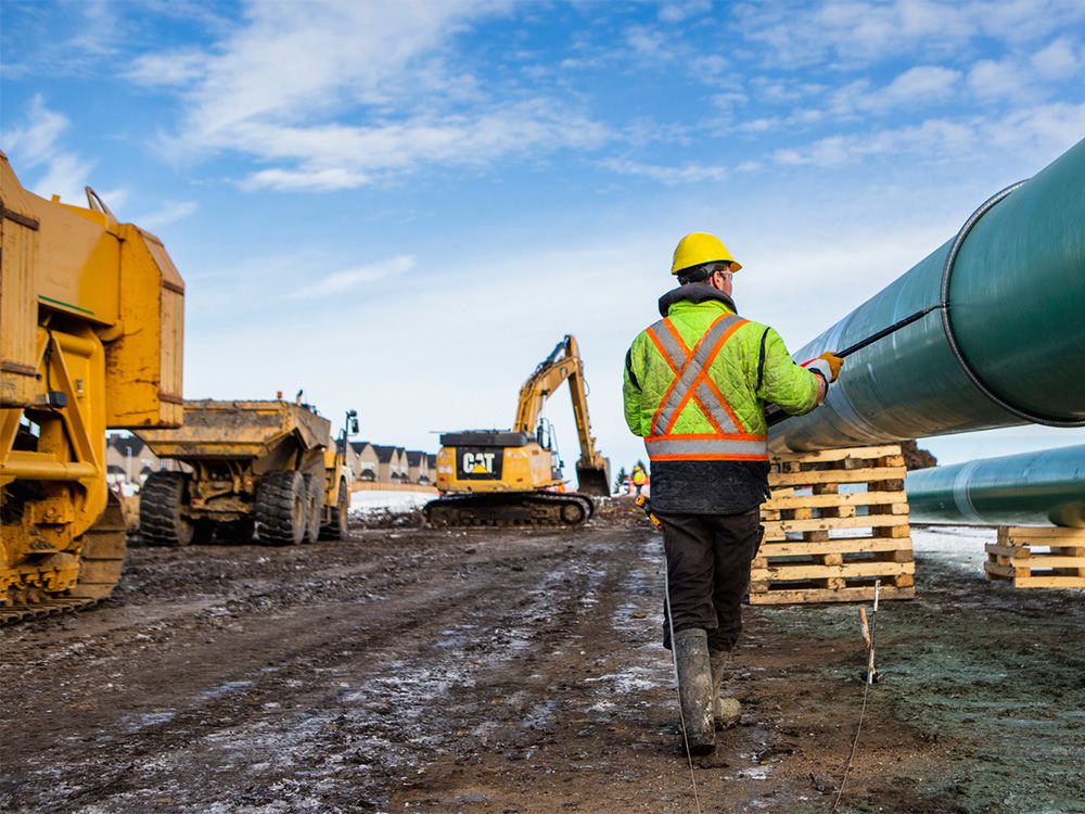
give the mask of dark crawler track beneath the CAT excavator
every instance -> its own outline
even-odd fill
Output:
[[[579,525],[595,513],[595,503],[575,492],[511,492],[456,495],[422,508],[434,527],[531,527]]]

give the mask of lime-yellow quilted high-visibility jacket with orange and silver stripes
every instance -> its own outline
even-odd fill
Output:
[[[626,355],[625,420],[644,438],[653,472],[668,461],[766,461],[765,405],[802,415],[825,397],[821,377],[796,365],[775,330],[710,292],[685,285],[665,295],[666,317]]]

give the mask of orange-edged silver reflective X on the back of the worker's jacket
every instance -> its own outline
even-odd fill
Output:
[[[652,420],[653,435],[669,432],[690,398],[697,402],[718,432],[742,432],[743,428],[731,412],[727,400],[706,378],[706,370],[724,346],[724,341],[745,321],[736,314],[725,314],[712,323],[692,353],[686,349],[669,320],[661,320],[648,329],[649,335],[676,373],[675,381]]]

